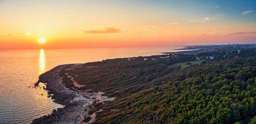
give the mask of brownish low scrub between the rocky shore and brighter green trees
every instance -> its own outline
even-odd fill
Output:
[[[194,59],[195,56],[193,55],[107,59],[86,63],[76,69],[69,70],[71,68],[69,66],[63,69],[59,75],[63,77],[64,84],[70,89],[103,91],[107,96],[113,97],[147,89],[152,84],[158,83],[152,82],[153,80],[180,69],[180,67],[168,68],[169,65]],[[85,86],[75,87],[66,73],[71,75],[78,84]]]

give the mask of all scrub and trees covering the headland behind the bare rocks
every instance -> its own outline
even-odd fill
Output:
[[[201,64],[193,55],[166,56],[87,63],[61,75],[70,88],[65,72],[86,85],[81,90],[117,97],[92,107],[91,114],[103,110],[94,123],[255,123],[255,49],[198,54]]]

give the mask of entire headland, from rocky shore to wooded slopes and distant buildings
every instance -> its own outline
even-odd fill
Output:
[[[35,86],[65,107],[32,123],[253,123],[255,44],[232,47],[55,67]]]

